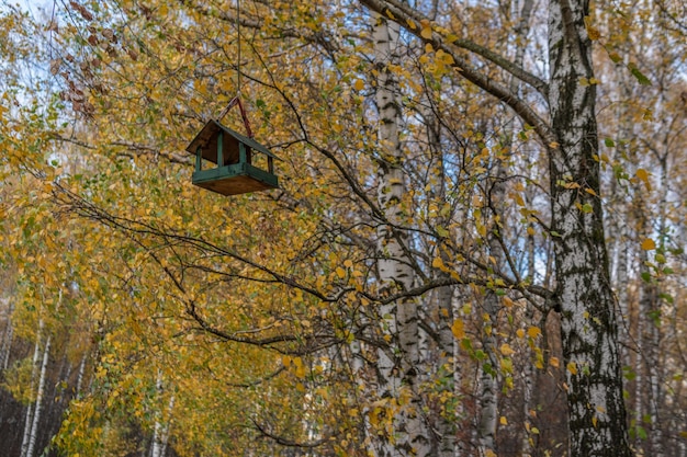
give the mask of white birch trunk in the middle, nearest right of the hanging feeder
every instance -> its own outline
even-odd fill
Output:
[[[373,39],[378,70],[376,106],[380,116],[379,139],[381,160],[379,168],[378,202],[390,225],[378,228],[378,270],[381,292],[395,293],[409,289],[414,271],[406,254],[406,237],[392,225],[403,221],[402,201],[405,194],[403,153],[399,140],[401,104],[398,84],[390,70],[399,61],[399,26],[381,15],[375,20]],[[392,414],[391,430],[375,446],[378,456],[426,456],[430,454],[430,439],[420,415],[418,392],[419,364],[418,313],[412,299],[403,299],[380,307],[382,331],[390,342],[387,350],[379,351],[379,397],[385,400]]]

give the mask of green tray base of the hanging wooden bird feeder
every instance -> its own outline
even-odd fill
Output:
[[[193,184],[222,195],[237,195],[279,187],[277,176],[249,163],[237,163],[193,173]]]

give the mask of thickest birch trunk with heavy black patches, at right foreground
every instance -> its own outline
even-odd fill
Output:
[[[552,236],[570,418],[570,455],[629,457],[618,328],[599,195],[596,87],[586,0],[552,0],[549,145]],[[573,185],[566,185],[567,183]]]

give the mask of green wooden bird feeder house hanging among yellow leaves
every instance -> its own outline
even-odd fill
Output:
[[[274,159],[264,146],[210,121],[187,147],[195,156],[193,184],[222,195],[279,187]],[[205,168],[206,162],[216,167]]]

